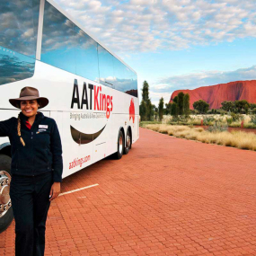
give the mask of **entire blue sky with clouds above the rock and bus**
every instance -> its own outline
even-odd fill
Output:
[[[146,80],[150,97],[256,79],[255,0],[55,0]],[[141,93],[139,92],[141,96]]]

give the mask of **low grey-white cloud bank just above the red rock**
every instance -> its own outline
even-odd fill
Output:
[[[200,86],[225,84],[232,81],[255,80],[256,66],[240,68],[234,71],[207,71],[189,75],[165,77],[151,86],[153,93],[168,93],[181,89],[195,89]]]

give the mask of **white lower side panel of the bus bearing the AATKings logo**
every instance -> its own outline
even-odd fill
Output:
[[[74,84],[77,84],[78,87],[78,94],[75,91],[75,99],[78,99],[79,104],[76,101],[71,106],[74,98]],[[89,84],[93,84],[93,90],[88,89]],[[49,99],[49,105],[42,112],[45,116],[51,117],[57,122],[63,145],[63,178],[117,152],[119,128],[124,128],[125,133],[127,133],[129,126],[132,130],[132,143],[137,141],[139,104],[137,97],[119,92],[40,61],[36,61],[35,73],[31,78],[0,86],[0,94],[5,95],[4,101],[1,102],[0,120],[18,116],[19,110],[13,109],[9,99],[18,97],[17,93],[24,86],[37,88],[40,91],[40,96]],[[81,108],[84,86],[87,90],[88,110],[86,104],[83,105],[83,109]],[[99,90],[99,93],[96,93],[98,97],[94,94],[95,89]],[[102,90],[101,92],[100,89]],[[94,107],[97,100],[100,106],[100,93],[106,95],[106,97],[112,97],[112,110],[110,110],[108,119],[106,117],[107,108],[104,109],[103,104],[102,110],[97,110]],[[92,110],[90,109],[91,102]],[[129,113],[132,102],[134,103],[134,116]],[[75,142],[71,134],[71,127],[86,135],[95,134],[102,128],[103,130],[99,137],[93,139],[92,142],[84,144],[83,142]],[[0,145],[8,141],[8,138],[1,137]]]

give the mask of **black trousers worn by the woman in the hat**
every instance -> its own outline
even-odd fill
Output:
[[[10,196],[15,219],[15,255],[43,256],[52,172],[12,176]]]

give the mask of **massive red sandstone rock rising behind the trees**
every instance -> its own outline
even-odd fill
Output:
[[[246,100],[256,103],[256,80],[202,86],[193,90],[177,90],[172,93],[170,102],[172,103],[174,97],[181,92],[190,94],[190,109],[193,109],[193,103],[199,100],[207,102],[210,109],[220,109],[221,102],[225,101]]]

